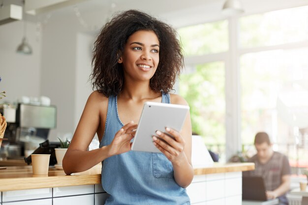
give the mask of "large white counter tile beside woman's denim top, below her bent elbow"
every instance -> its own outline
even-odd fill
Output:
[[[206,183],[197,182],[191,183],[187,188],[187,194],[190,198],[190,203],[205,202],[206,199]]]

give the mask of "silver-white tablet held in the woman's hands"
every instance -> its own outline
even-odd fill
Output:
[[[156,130],[165,132],[165,127],[181,131],[189,106],[145,102],[131,149],[134,151],[160,152],[153,145]]]

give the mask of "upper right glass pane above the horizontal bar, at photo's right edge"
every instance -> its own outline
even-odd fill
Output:
[[[308,40],[308,6],[240,19],[240,47],[271,46]]]

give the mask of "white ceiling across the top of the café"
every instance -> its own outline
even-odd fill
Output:
[[[44,0],[47,1],[47,0]],[[174,27],[215,21],[226,18],[221,13],[221,7],[225,0],[83,0],[77,3],[80,13],[84,16],[111,15],[116,11],[138,9],[151,15],[166,20]],[[245,13],[259,13],[288,7],[308,5],[308,0],[241,0]],[[4,5],[22,5],[23,0],[0,0]],[[114,7],[112,5],[115,5]],[[51,12],[53,18],[76,18],[74,6],[67,6]],[[28,21],[39,21],[41,14],[37,16],[27,15]]]

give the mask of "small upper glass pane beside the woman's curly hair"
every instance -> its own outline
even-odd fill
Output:
[[[178,29],[185,56],[198,56],[228,50],[226,20]]]

